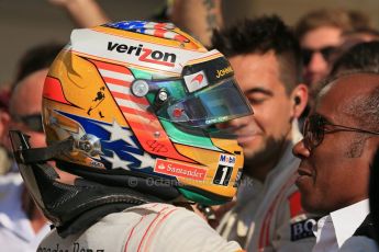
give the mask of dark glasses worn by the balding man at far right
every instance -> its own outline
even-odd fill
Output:
[[[325,126],[331,126],[333,128],[326,128]],[[336,131],[355,131],[355,133],[363,133],[363,134],[379,135],[379,133],[377,131],[370,131],[366,129],[332,124],[327,122],[327,119],[324,118],[323,116],[319,114],[313,114],[313,115],[310,115],[304,122],[303,141],[304,141],[305,148],[309,150],[316,148],[324,140],[325,134],[331,134],[331,133],[336,133]]]

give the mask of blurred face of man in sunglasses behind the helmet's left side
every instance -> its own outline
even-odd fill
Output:
[[[11,128],[31,136],[32,147],[45,147],[45,135],[41,128],[42,92],[47,69],[25,77],[14,90],[11,100]],[[40,129],[38,129],[40,128]]]

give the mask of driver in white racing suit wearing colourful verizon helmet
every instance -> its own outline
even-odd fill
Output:
[[[170,23],[75,30],[43,91],[46,148],[10,131],[54,229],[37,251],[238,251],[191,204],[233,198],[243,150],[215,125],[252,114],[228,61]],[[75,174],[59,181],[54,168]]]

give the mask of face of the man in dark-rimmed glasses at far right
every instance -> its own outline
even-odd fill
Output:
[[[363,98],[370,88],[359,85],[359,81],[367,81],[364,78],[367,75],[344,77],[324,88],[312,115],[323,117],[328,124],[360,128],[356,115],[348,107],[357,104],[354,101],[361,101],[358,100],[359,96]],[[311,125],[314,129],[319,128],[314,125],[320,124]],[[316,134],[310,137],[304,133],[305,139],[293,147],[293,153],[301,159],[297,186],[301,193],[302,206],[305,210],[317,214],[328,214],[367,198],[371,160],[368,145],[377,140],[377,137],[365,140],[365,134],[337,130],[333,125],[326,124],[324,128],[326,133],[324,131],[323,140],[317,146],[309,144],[319,139]]]

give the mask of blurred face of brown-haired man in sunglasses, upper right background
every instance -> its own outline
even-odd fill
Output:
[[[312,85],[325,78],[330,71],[328,58],[342,43],[342,31],[322,26],[305,33],[300,39],[303,49],[303,77]]]

